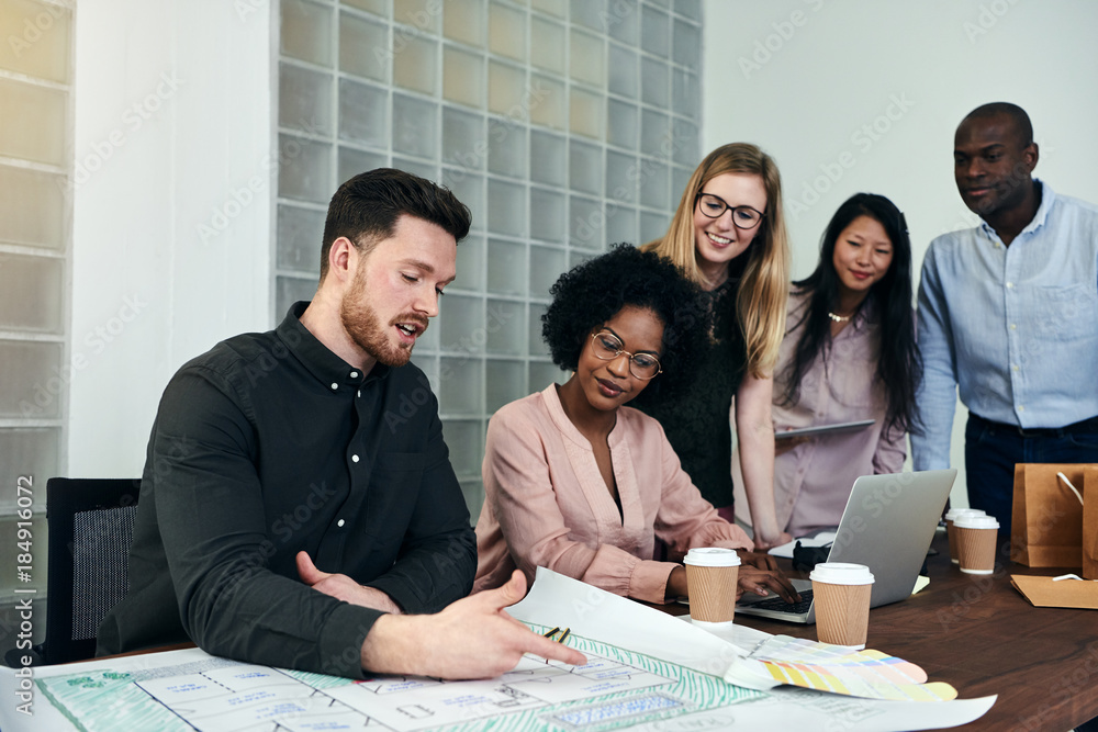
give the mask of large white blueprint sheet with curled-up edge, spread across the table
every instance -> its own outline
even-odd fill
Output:
[[[35,668],[34,717],[0,703],[0,728],[666,732],[731,724],[769,729],[781,719],[806,729],[839,724],[836,729],[849,732],[887,732],[962,724],[994,702],[994,697],[928,703],[791,687],[749,690],[720,675],[728,658],[754,650],[768,634],[735,627],[717,637],[553,573],[539,572],[531,594],[512,610],[537,632],[571,628],[568,644],[585,653],[589,663],[569,666],[526,656],[490,680],[388,676],[352,682],[243,664],[197,649],[173,651]],[[18,680],[13,669],[0,669],[0,699],[14,698]]]

